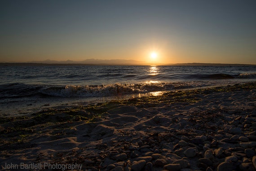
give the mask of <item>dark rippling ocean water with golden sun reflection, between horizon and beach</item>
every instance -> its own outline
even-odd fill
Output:
[[[0,115],[256,81],[256,66],[0,66]]]

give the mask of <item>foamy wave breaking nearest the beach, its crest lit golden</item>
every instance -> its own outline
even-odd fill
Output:
[[[97,96],[122,96],[129,94],[170,91],[173,89],[193,88],[188,83],[137,83],[137,84],[107,84],[107,85],[66,85],[65,87],[50,87],[40,91],[44,95],[60,97],[97,97]]]

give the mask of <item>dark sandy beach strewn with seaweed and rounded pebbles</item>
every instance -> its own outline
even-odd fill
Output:
[[[255,82],[0,118],[0,171],[255,169]]]

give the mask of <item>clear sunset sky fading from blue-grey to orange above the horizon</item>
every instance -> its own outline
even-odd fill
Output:
[[[0,1],[0,62],[91,58],[256,64],[256,0]]]

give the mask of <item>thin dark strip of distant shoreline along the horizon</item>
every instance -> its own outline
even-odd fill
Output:
[[[256,66],[255,64],[221,64],[221,63],[178,63],[178,64],[84,64],[84,63],[22,63],[2,62],[0,66]]]

